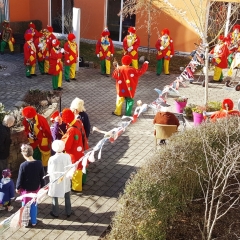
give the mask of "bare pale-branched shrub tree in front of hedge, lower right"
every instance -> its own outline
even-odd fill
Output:
[[[239,119],[238,119],[239,120]],[[196,166],[202,193],[205,213],[202,227],[202,239],[211,240],[217,221],[224,217],[230,209],[238,207],[240,199],[239,181],[239,144],[230,140],[239,135],[239,128],[230,134],[228,118],[222,119],[226,139],[216,139],[217,148],[208,145],[206,136],[201,135],[205,153],[205,164]]]

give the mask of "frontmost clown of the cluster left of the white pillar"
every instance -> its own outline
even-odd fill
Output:
[[[54,39],[52,42],[52,49],[49,56],[49,74],[52,75],[53,90],[62,90],[62,53],[63,48],[59,47],[60,42]]]

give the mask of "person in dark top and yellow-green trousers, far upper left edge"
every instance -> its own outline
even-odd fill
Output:
[[[1,33],[1,45],[0,45],[0,51],[1,54],[4,54],[4,49],[8,45],[10,49],[10,53],[14,53],[14,47],[13,44],[15,43],[15,39],[13,38],[13,31],[10,28],[10,23],[7,20],[4,20],[2,23],[3,30]]]

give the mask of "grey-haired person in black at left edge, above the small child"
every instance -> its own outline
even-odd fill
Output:
[[[10,155],[11,132],[10,128],[14,125],[15,118],[12,115],[5,115],[0,124],[0,173],[8,168],[8,157]]]

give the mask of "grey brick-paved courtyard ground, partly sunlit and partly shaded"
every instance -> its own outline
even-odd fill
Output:
[[[52,89],[51,76],[41,76],[37,71],[37,77],[25,77],[22,54],[0,55],[0,65],[7,66],[5,71],[0,71],[0,102],[7,109],[13,109],[29,89]],[[151,103],[158,97],[154,88],[162,89],[176,76],[159,77],[155,72],[147,72],[140,78],[135,100]],[[201,84],[190,84],[186,88],[181,86],[179,92],[189,98],[189,103],[204,103],[204,88]],[[98,69],[80,68],[76,81],[63,81],[62,108],[69,107],[75,97],[85,101],[91,126],[110,130],[121,122],[121,118],[111,114],[115,108],[115,81],[111,77],[100,75]],[[240,95],[233,89],[226,89],[224,84],[209,84],[210,101],[221,101],[225,97],[233,99],[237,104]],[[173,98],[169,97],[168,103],[171,104],[170,110],[174,112]],[[125,183],[153,153],[153,117],[154,113],[149,109],[114,143],[107,142],[104,145],[102,158],[89,166],[83,191],[71,194],[73,214],[70,218],[64,215],[62,200],[60,217],[53,219],[49,214],[51,199],[47,198],[39,205],[36,227],[9,229],[0,239],[99,239],[118,207],[118,196],[123,192]],[[94,147],[102,137],[100,133],[91,133],[89,146]],[[97,154],[95,158],[97,159]],[[14,202],[13,206],[14,212],[20,207],[20,202]],[[1,211],[0,221],[10,215],[7,211]]]

